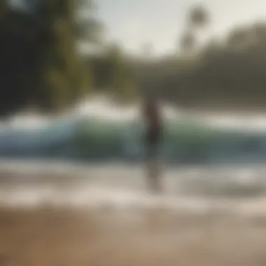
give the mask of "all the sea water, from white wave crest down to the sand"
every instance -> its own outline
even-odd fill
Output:
[[[266,116],[162,110],[164,195],[146,190],[139,106],[97,97],[57,118],[1,123],[0,204],[264,214]]]

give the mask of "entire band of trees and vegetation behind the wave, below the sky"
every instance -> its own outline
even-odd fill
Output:
[[[0,1],[0,116],[29,108],[64,111],[92,88],[124,102],[158,92],[189,108],[266,104],[264,22],[202,46],[197,36],[214,22],[195,6],[175,55],[137,59],[104,40],[93,1],[21,0],[20,9],[8,2]],[[85,54],[80,44],[99,52]],[[145,47],[148,55],[151,45]]]

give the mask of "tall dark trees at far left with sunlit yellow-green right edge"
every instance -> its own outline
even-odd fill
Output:
[[[0,116],[28,106],[61,111],[84,97],[91,75],[76,49],[73,1],[29,1],[29,12],[6,3],[0,3]]]

